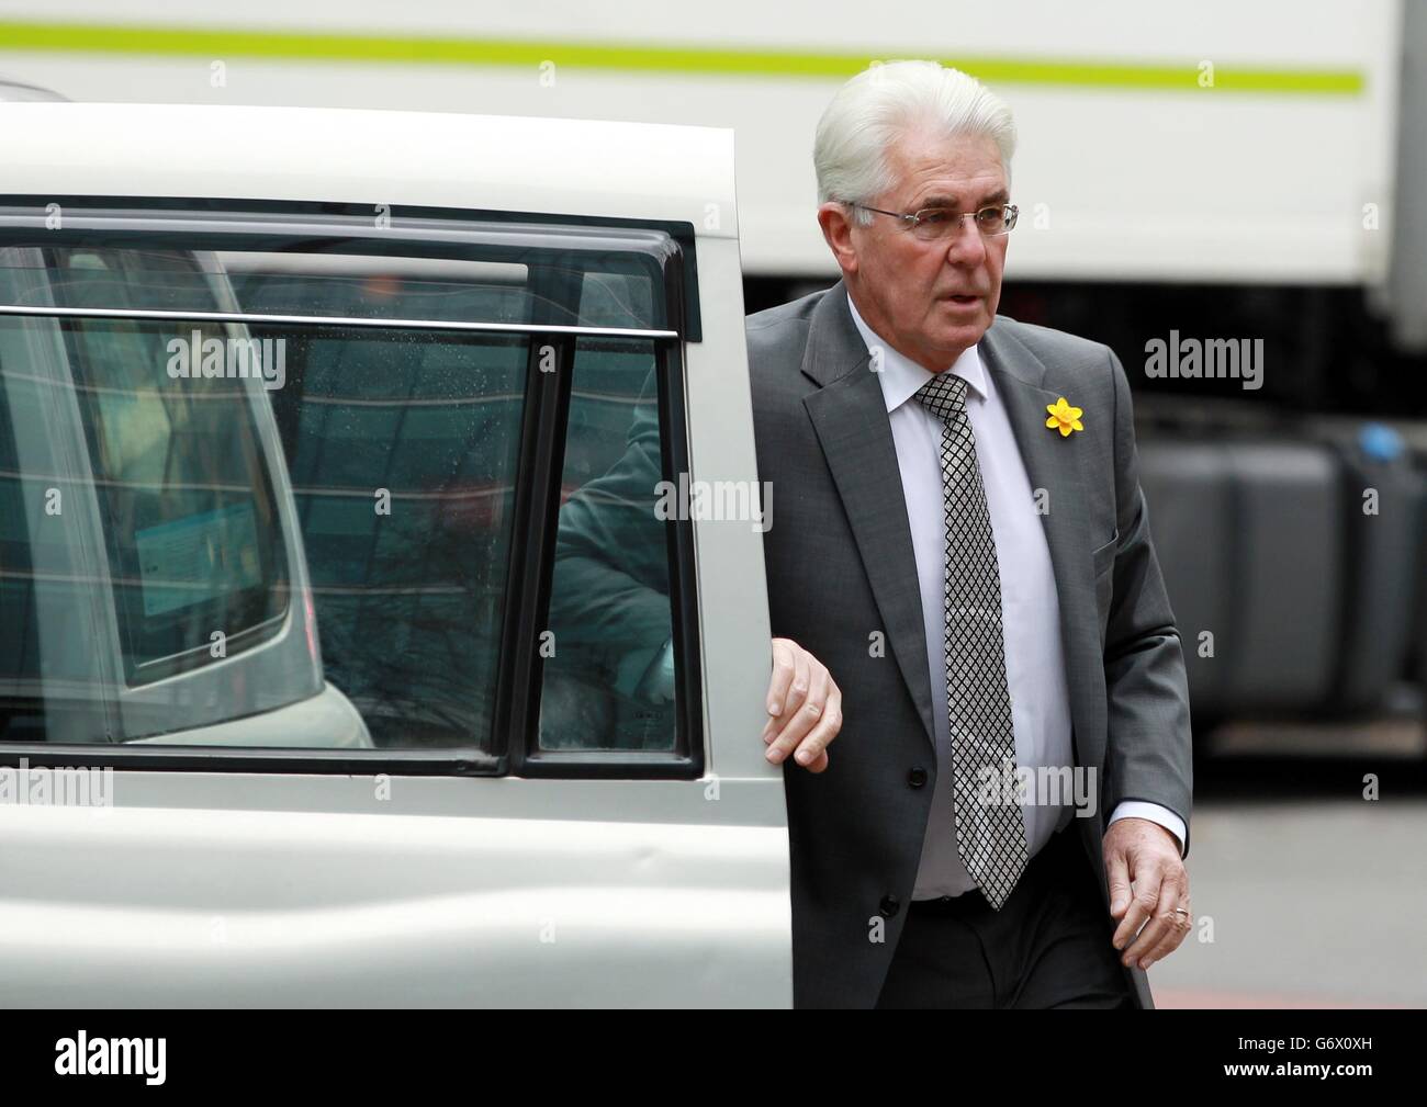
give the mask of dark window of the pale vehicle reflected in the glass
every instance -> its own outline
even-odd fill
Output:
[[[57,300],[127,307],[111,257],[57,254]],[[228,328],[76,318],[60,330],[118,582],[128,679],[213,663],[274,633],[288,589],[253,414],[261,397],[241,379],[198,375],[205,344],[224,355],[218,368],[231,368]],[[213,649],[215,632],[223,651]]]

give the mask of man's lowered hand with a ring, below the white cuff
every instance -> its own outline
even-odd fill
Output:
[[[1194,916],[1174,836],[1149,819],[1116,819],[1104,833],[1104,874],[1120,960],[1147,969],[1179,949]]]

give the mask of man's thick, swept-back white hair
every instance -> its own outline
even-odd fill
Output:
[[[886,61],[843,84],[818,120],[812,147],[818,203],[865,204],[885,193],[896,184],[888,150],[920,127],[990,138],[1010,183],[1016,123],[1005,100],[938,61]],[[872,213],[855,208],[853,218],[866,225]]]

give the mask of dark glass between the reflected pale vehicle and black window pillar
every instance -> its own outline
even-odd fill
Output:
[[[378,746],[489,746],[528,338],[281,337],[287,449],[327,679]]]

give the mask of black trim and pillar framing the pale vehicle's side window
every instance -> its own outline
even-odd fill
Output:
[[[47,204],[61,205],[63,225],[44,228]],[[374,231],[371,205],[280,203],[253,200],[184,200],[171,197],[16,197],[0,195],[0,247],[63,245],[81,238],[93,245],[94,231],[110,231],[116,240],[173,240],[183,250],[217,237],[230,241],[243,235],[260,238],[311,240],[323,224],[337,237],[332,252],[388,252],[385,247],[421,243],[440,245],[442,255],[465,257],[451,233],[464,233],[488,254],[485,235],[497,233],[511,248],[559,254],[562,248],[589,248],[644,254],[664,288],[664,318],[672,330],[601,328],[552,324],[451,324],[420,321],[431,330],[487,330],[548,335],[557,350],[557,372],[534,371],[539,344],[531,342],[531,372],[527,374],[521,451],[517,464],[517,504],[508,554],[508,581],[501,628],[501,665],[489,752],[474,746],[438,750],[351,750],[275,749],[245,750],[234,746],[140,746],[121,743],[0,743],[0,766],[19,767],[113,767],[138,772],[250,772],[250,773],[341,773],[374,776],[528,776],[559,779],[682,779],[704,775],[705,735],[701,688],[698,589],[694,565],[694,532],[689,519],[672,521],[668,542],[669,602],[675,643],[676,740],[674,752],[646,750],[537,750],[541,668],[537,649],[544,625],[554,571],[555,526],[559,481],[572,388],[574,351],[579,337],[636,337],[654,341],[659,407],[662,479],[688,471],[688,427],[684,412],[684,342],[699,341],[699,311],[694,227],[688,223],[562,217],[548,213],[492,213],[477,210],[410,208],[392,205],[390,228]],[[98,214],[96,214],[98,213]],[[154,214],[157,213],[157,215]],[[166,218],[167,217],[167,218]],[[201,218],[207,217],[207,218]],[[257,220],[254,220],[257,217]],[[254,221],[268,220],[268,223]],[[337,221],[332,227],[331,221]],[[431,223],[442,227],[432,227]],[[455,225],[452,225],[455,224]],[[531,224],[522,228],[521,224]],[[203,228],[200,231],[200,228]],[[36,231],[43,233],[39,241]],[[628,233],[645,231],[644,235]],[[442,231],[440,237],[428,237]],[[658,234],[648,234],[656,231]],[[195,235],[197,233],[197,235]],[[360,234],[358,234],[360,233]],[[621,233],[626,233],[621,235]],[[268,245],[280,245],[274,241]],[[345,250],[342,248],[345,247]],[[452,247],[457,247],[452,250]],[[390,251],[397,252],[397,251]],[[410,254],[410,251],[407,251]],[[427,254],[424,252],[422,257]],[[481,260],[489,260],[482,257]],[[541,302],[578,304],[578,282],[565,272],[572,288]],[[9,315],[78,317],[97,310],[4,308]],[[107,312],[106,312],[107,314]],[[194,318],[191,312],[114,310],[121,318]],[[201,314],[201,312],[200,312]],[[290,321],[311,325],[371,325],[400,328],[407,321],[391,318],[337,320],[334,317],[264,317],[247,312],[211,312],[233,321]],[[528,478],[528,479],[527,479]],[[517,729],[518,728],[518,729]],[[501,743],[509,740],[508,749]]]

